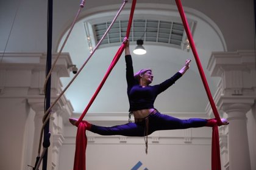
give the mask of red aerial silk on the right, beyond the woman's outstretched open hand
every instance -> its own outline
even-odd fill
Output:
[[[182,18],[183,25],[185,27],[188,40],[190,42],[190,46],[192,49],[192,52],[194,54],[194,58],[196,60],[197,67],[199,69],[199,73],[202,78],[202,82],[204,84],[208,100],[210,101],[210,104],[212,106],[213,114],[215,115],[216,120],[218,121],[218,124],[221,124],[221,118],[219,117],[218,110],[215,106],[215,103],[213,101],[212,94],[210,92],[210,88],[208,86],[207,80],[204,75],[204,70],[202,69],[201,61],[199,60],[199,56],[196,51],[196,47],[194,46],[194,41],[190,32],[190,27],[188,25],[187,18],[185,16],[185,13],[183,11],[182,4],[180,0],[176,0],[176,4],[180,13],[180,17]],[[219,151],[219,132],[218,132],[218,126],[213,127],[213,134],[212,134],[212,170],[221,170],[221,158],[220,158],[220,151]]]

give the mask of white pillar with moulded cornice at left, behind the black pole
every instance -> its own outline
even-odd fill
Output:
[[[52,59],[56,56],[52,55]],[[60,55],[52,72],[51,103],[62,90],[60,77],[69,77],[68,65],[71,64],[68,53]],[[1,124],[6,127],[5,131],[1,131],[1,135],[7,136],[1,151],[8,160],[1,159],[5,161],[0,163],[5,165],[4,169],[27,169],[27,165],[35,165],[44,115],[45,65],[45,53],[5,53],[0,64],[0,107],[1,113],[6,115],[1,119]],[[52,110],[56,112],[63,107],[68,110],[65,114],[70,115],[73,108],[65,96],[60,98]],[[62,116],[66,118],[69,115]],[[53,120],[54,115],[51,115],[50,131],[53,129]],[[48,169],[56,167],[52,163],[54,135],[50,138]]]

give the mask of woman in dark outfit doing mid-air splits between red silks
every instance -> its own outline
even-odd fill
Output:
[[[132,56],[130,55],[129,40],[124,38],[126,43],[125,60],[126,60],[126,80],[127,80],[127,95],[129,98],[130,114],[133,114],[135,123],[129,121],[127,124],[118,126],[104,127],[84,121],[87,125],[87,130],[100,135],[124,135],[129,137],[146,137],[146,153],[148,152],[148,135],[152,132],[160,130],[172,129],[187,129],[190,127],[203,126],[221,126],[229,124],[225,119],[221,119],[222,124],[218,124],[216,119],[201,119],[190,118],[187,120],[180,120],[169,115],[161,114],[154,107],[155,98],[157,95],[168,89],[174,84],[182,75],[187,72],[190,67],[190,61],[186,60],[185,66],[179,70],[168,80],[163,83],[150,86],[153,81],[151,69],[142,69],[133,74]],[[130,115],[129,115],[130,117]],[[69,118],[71,124],[76,125],[77,120]]]

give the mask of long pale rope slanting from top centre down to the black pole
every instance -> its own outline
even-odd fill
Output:
[[[40,155],[40,151],[41,151],[41,142],[42,142],[42,137],[43,137],[43,128],[46,125],[47,121],[49,120],[50,116],[51,116],[51,109],[52,107],[54,107],[54,105],[57,103],[57,101],[59,101],[60,97],[62,97],[62,95],[66,92],[66,90],[68,89],[68,87],[73,83],[73,81],[76,79],[76,77],[79,75],[79,73],[82,71],[82,69],[84,69],[85,65],[88,63],[88,61],[90,60],[91,56],[93,56],[94,52],[96,51],[96,49],[98,49],[99,45],[101,44],[102,40],[105,38],[105,36],[107,35],[107,33],[109,32],[109,30],[111,29],[112,25],[114,24],[114,22],[116,21],[116,19],[118,18],[119,14],[121,13],[121,11],[124,8],[124,5],[126,4],[126,0],[123,2],[123,4],[121,5],[120,9],[118,10],[118,13],[116,14],[115,18],[113,19],[112,23],[110,24],[110,26],[108,27],[108,29],[106,30],[106,32],[104,33],[104,35],[102,36],[101,40],[98,42],[98,44],[96,45],[96,47],[93,49],[93,52],[90,54],[90,56],[87,58],[87,60],[85,61],[85,63],[82,65],[82,67],[80,67],[80,69],[77,71],[76,75],[74,75],[73,79],[68,83],[68,85],[65,87],[65,89],[62,90],[62,92],[60,93],[59,97],[56,98],[56,100],[52,103],[51,107],[49,107],[48,110],[46,110],[44,117],[43,117],[43,126],[41,128],[41,135],[40,135],[40,141],[39,141],[39,146],[38,146],[38,155]]]

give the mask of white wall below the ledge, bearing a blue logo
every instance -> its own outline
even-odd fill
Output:
[[[143,141],[141,140],[141,143]],[[60,169],[72,169],[74,145],[63,145]],[[132,169],[141,161],[140,169],[210,169],[210,145],[149,144],[88,144],[87,169]]]

